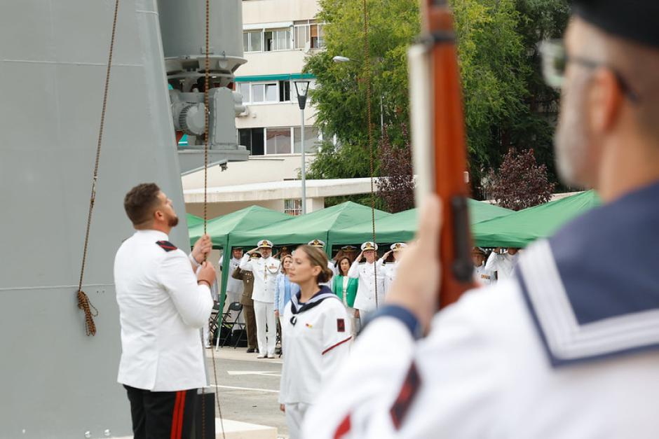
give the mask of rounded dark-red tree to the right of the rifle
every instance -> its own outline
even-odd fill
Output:
[[[547,167],[538,165],[532,149],[517,153],[510,148],[497,172],[489,173],[486,185],[491,200],[512,210],[548,202],[555,183],[550,183]]]

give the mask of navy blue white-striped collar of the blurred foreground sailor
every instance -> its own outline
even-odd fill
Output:
[[[522,293],[554,367],[659,349],[659,183],[529,247]]]

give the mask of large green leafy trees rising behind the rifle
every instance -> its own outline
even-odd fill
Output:
[[[393,146],[409,118],[407,47],[419,34],[418,0],[367,0],[369,58],[364,53],[362,0],[320,0],[327,49],[308,58],[317,78],[311,92],[326,143],[311,165],[313,178],[369,175],[366,78],[372,78],[373,144],[379,142],[380,97]],[[554,180],[552,134],[557,93],[540,74],[537,43],[562,35],[567,0],[451,0],[458,37],[467,143],[475,195],[480,179],[508,148],[533,148]],[[334,63],[342,55],[352,62]],[[376,160],[375,175],[380,174]]]

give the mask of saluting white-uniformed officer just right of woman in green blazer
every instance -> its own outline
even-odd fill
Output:
[[[362,244],[362,253],[348,270],[348,277],[359,279],[354,307],[362,323],[368,319],[368,314],[384,304],[384,277],[382,270],[377,270],[376,267],[377,249],[378,244],[374,242]],[[360,263],[362,257],[366,259],[365,263]]]

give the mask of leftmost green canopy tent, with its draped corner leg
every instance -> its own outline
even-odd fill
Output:
[[[260,206],[245,207],[231,214],[226,214],[214,218],[206,223],[206,232],[210,235],[213,243],[213,248],[224,249],[222,258],[222,295],[220,298],[220,306],[224,309],[224,295],[226,291],[226,279],[229,275],[229,263],[231,262],[231,246],[229,246],[229,234],[238,232],[240,230],[252,230],[264,224],[274,225],[292,220],[292,216],[283,214],[282,212],[266,209]],[[201,218],[200,218],[201,219]],[[201,223],[193,228],[190,228],[190,245],[193,245],[197,239],[203,235],[203,219]],[[232,246],[236,246],[233,244]]]

